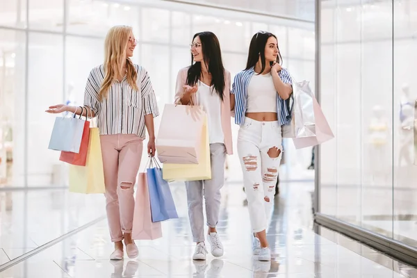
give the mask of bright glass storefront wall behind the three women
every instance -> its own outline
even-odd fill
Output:
[[[82,104],[88,73],[102,63],[104,36],[115,24],[133,26],[139,40],[133,61],[149,72],[161,111],[173,101],[178,70],[190,65],[188,45],[197,31],[218,35],[232,79],[245,67],[250,39],[259,30],[277,34],[284,67],[295,78],[314,79],[312,22],[170,1],[27,3],[0,3],[1,186],[67,184],[65,163],[48,149],[55,117],[44,111],[52,104]],[[245,8],[243,3],[240,8]],[[301,159],[303,168],[309,165],[309,151],[306,156]],[[297,156],[290,162],[300,163]],[[236,156],[229,163],[240,174]]]

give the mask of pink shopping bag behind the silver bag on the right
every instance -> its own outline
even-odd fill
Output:
[[[295,149],[313,147],[334,138],[332,129],[323,114],[316,97],[313,97],[314,119],[316,120],[316,135],[309,137],[293,138]]]

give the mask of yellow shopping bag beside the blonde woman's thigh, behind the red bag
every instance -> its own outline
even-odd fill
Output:
[[[85,166],[70,165],[70,192],[92,194],[105,191],[99,129],[92,127]]]

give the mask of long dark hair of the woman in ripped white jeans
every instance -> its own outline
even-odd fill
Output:
[[[268,42],[268,39],[270,37],[274,37],[275,39],[277,39],[276,35],[269,33],[269,32],[264,32],[264,31],[259,31],[252,37],[252,40],[250,41],[249,54],[247,56],[247,63],[246,63],[245,70],[249,70],[251,67],[254,67],[256,63],[258,63],[259,55],[261,55],[261,63],[262,63],[261,72],[265,70],[265,46],[266,46],[266,42]],[[282,64],[282,56],[281,56],[281,52],[279,51],[279,47],[278,47],[277,63],[279,63],[279,65]]]

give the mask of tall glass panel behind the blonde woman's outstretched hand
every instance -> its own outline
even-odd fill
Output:
[[[64,101],[63,37],[31,33],[28,43],[28,186],[63,186],[60,153],[48,149],[55,115],[44,112]]]

